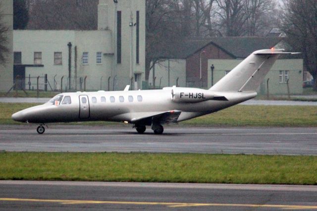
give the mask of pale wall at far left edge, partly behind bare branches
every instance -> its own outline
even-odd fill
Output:
[[[9,49],[6,63],[0,64],[0,91],[7,91],[13,85],[13,0],[0,1],[1,13],[3,14],[2,23],[4,23],[9,31],[6,33]]]

